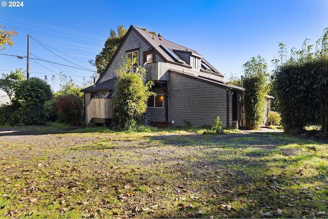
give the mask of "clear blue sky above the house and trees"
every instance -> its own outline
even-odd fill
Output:
[[[59,89],[59,72],[79,85],[83,79],[93,81],[96,69],[88,60],[99,54],[110,30],[119,25],[146,28],[194,49],[226,77],[242,74],[242,65],[258,55],[267,59],[272,70],[279,42],[288,51],[301,49],[306,38],[315,45],[328,27],[326,0],[25,0],[23,7],[0,2],[7,3],[0,6],[0,24],[18,32],[15,45],[0,51],[7,54],[0,55],[0,74],[26,70],[26,58],[9,55],[26,56],[30,34],[32,58],[62,64],[30,62],[30,77],[47,75],[54,91]]]

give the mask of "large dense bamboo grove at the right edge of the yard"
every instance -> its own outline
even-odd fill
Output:
[[[313,45],[305,39],[302,49],[293,48],[290,57],[282,43],[272,75],[276,105],[286,131],[315,126],[327,136],[328,125],[328,28]]]

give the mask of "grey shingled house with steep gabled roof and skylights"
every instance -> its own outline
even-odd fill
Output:
[[[124,57],[137,58],[157,93],[148,101],[150,123],[155,126],[202,126],[220,116],[224,127],[243,123],[243,88],[223,83],[223,75],[197,51],[131,26],[104,74],[85,94],[85,121],[108,123],[113,118],[115,70]],[[235,124],[236,122],[234,122]]]

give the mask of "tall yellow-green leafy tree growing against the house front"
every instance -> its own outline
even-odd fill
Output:
[[[114,115],[120,127],[134,128],[142,122],[147,110],[147,101],[155,93],[150,89],[152,81],[146,82],[146,69],[136,66],[136,59],[126,58],[124,64],[116,71]]]

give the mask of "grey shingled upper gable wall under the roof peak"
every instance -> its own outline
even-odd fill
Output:
[[[105,72],[103,78],[101,78],[100,82],[107,81],[113,77],[115,77],[115,71],[119,69],[120,64],[124,61],[124,58],[127,56],[128,50],[138,50],[138,65],[144,64],[144,51],[149,51],[149,46],[134,32],[131,31],[129,36],[127,37],[125,43],[122,45],[117,55],[114,57],[114,60],[109,67],[108,71]],[[155,56],[157,59],[157,55]]]

